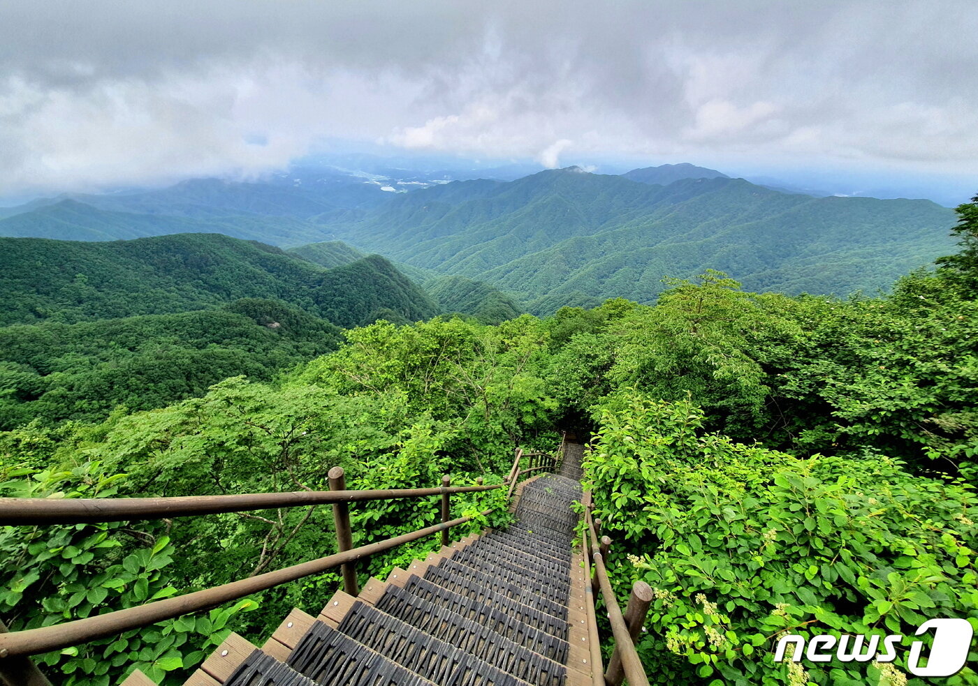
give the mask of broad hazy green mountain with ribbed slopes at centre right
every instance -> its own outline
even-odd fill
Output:
[[[952,219],[928,200],[817,198],[727,178],[661,187],[568,168],[425,189],[330,231],[547,313],[571,294],[650,302],[664,277],[707,268],[751,289],[871,293],[948,252]]]

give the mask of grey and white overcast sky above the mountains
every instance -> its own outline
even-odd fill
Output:
[[[4,0],[0,196],[478,157],[898,171],[978,189],[978,2]]]

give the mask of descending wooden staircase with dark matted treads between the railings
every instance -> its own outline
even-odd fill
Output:
[[[232,634],[187,686],[577,686],[591,684],[579,515],[581,447],[529,479],[505,531],[469,536],[337,592],[318,617],[293,610],[258,648]],[[151,683],[137,672],[124,686]]]

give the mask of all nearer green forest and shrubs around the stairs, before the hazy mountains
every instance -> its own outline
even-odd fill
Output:
[[[757,293],[704,271],[663,284],[654,305],[616,298],[499,323],[425,310],[477,293],[464,282],[413,301],[414,323],[374,322],[370,298],[323,295],[345,294],[358,282],[345,270],[360,262],[324,270],[241,241],[225,250],[246,271],[189,265],[171,281],[137,278],[147,273],[144,248],[133,247],[142,241],[93,244],[73,262],[62,243],[12,243],[0,253],[4,322],[17,324],[0,329],[0,488],[323,489],[333,465],[352,488],[435,485],[445,473],[454,484],[499,483],[514,446],[554,450],[560,427],[586,426],[585,485],[615,540],[616,590],[624,600],[637,579],[654,589],[639,643],[649,673],[690,686],[917,686],[906,645],[892,665],[776,664],[773,648],[785,631],[912,637],[929,618],[978,625],[978,197],[957,213],[957,252],[886,295]],[[260,255],[241,257],[251,255],[244,245]],[[58,250],[61,270],[51,266]],[[167,255],[156,263],[173,264]],[[10,268],[15,259],[21,268]],[[107,266],[115,259],[125,268]],[[371,282],[409,292],[380,259],[367,265]],[[282,285],[300,281],[313,285]],[[244,289],[255,282],[269,286]],[[159,294],[168,304],[151,307]],[[341,340],[333,324],[346,327]],[[159,356],[224,359],[226,338],[210,336],[218,326],[239,331],[233,375],[201,363],[230,376],[203,389],[181,364],[160,365],[179,378],[175,391],[159,390]],[[173,400],[140,405],[114,373]],[[88,384],[109,390],[86,396]],[[17,395],[25,388],[32,395]],[[499,493],[460,497],[456,511],[498,504]],[[433,500],[352,511],[357,543],[436,519]],[[0,610],[19,629],[138,605],[331,552],[332,526],[328,508],[312,508],[7,528]],[[380,576],[436,545],[398,548],[361,572]],[[66,684],[108,686],[137,666],[176,683],[232,627],[267,636],[291,607],[317,612],[337,580],[306,579],[42,662]],[[978,654],[971,660],[949,686],[978,684]]]

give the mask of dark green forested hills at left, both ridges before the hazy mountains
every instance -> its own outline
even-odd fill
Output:
[[[438,277],[429,295],[339,242],[286,253],[220,235],[3,238],[0,250],[0,430],[163,407],[232,376],[269,381],[378,319],[523,312],[463,278]]]

